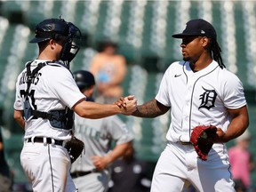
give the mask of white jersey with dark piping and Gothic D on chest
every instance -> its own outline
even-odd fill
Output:
[[[174,62],[165,71],[156,100],[172,108],[167,140],[189,141],[193,127],[212,124],[228,129],[226,108],[246,105],[240,80],[216,61],[194,73],[189,62]]]

